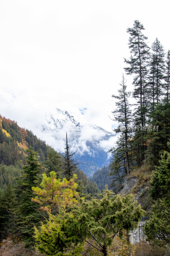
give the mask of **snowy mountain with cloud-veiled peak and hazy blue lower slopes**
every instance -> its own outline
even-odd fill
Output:
[[[108,149],[113,147],[115,135],[87,121],[82,114],[69,113],[56,108],[53,114],[46,114],[43,133],[51,134],[52,146],[62,152],[65,147],[66,132],[72,151],[79,168],[89,177],[99,167],[108,164],[110,155]]]

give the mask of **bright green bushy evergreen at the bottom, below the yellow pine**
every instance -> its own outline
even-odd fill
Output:
[[[67,224],[71,215],[64,210],[60,210],[57,216],[49,213],[47,223],[41,222],[39,230],[35,227],[34,237],[39,252],[49,256],[81,256],[82,242]]]

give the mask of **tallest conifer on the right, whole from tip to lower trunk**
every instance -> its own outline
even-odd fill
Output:
[[[146,119],[148,115],[148,95],[147,95],[147,62],[150,57],[150,48],[146,44],[147,37],[142,34],[144,26],[135,20],[133,28],[128,28],[127,32],[130,34],[129,37],[129,49],[130,49],[130,59],[124,59],[126,64],[130,67],[124,68],[127,75],[134,75],[133,84],[135,86],[133,96],[137,99],[137,108],[134,115],[135,125],[138,127],[144,126],[146,124]],[[138,145],[138,151],[140,153],[138,157],[139,165],[142,164],[144,160],[144,151],[146,150],[146,145],[144,143],[144,132],[142,129],[136,129],[136,138]]]

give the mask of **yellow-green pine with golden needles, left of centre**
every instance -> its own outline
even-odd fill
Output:
[[[42,182],[39,187],[32,187],[33,192],[36,194],[32,201],[41,204],[41,209],[55,214],[59,208],[65,208],[70,203],[76,203],[78,192],[76,192],[77,183],[76,174],[70,180],[64,178],[56,179],[56,172],[50,172],[50,176],[44,173],[42,175]]]

